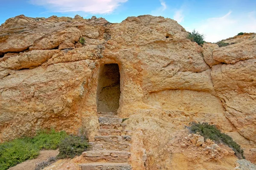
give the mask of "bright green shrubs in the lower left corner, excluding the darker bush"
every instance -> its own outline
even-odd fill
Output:
[[[23,137],[0,144],[0,170],[36,158],[41,149],[57,149],[61,140],[67,136],[64,131],[41,130],[33,138]]]

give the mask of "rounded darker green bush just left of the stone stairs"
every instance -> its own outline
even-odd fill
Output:
[[[70,135],[59,144],[60,153],[58,154],[58,158],[73,158],[81,155],[88,147],[89,144],[84,136]]]

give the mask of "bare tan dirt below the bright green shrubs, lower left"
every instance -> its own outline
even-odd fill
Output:
[[[9,168],[9,170],[35,170],[37,163],[47,161],[49,157],[57,156],[58,153],[58,150],[41,150],[37,158],[17,164],[15,167]]]

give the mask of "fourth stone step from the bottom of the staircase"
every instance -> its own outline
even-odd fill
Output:
[[[126,142],[128,143],[131,140],[131,136],[128,135],[122,135],[122,136],[118,136],[118,135],[112,135],[112,136],[95,136],[95,142],[99,143],[99,142]]]

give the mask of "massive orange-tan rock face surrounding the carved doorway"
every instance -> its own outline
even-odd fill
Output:
[[[94,142],[101,133],[97,111],[117,110],[129,118],[134,169],[168,170],[185,159],[180,169],[214,167],[212,159],[198,165],[170,143],[193,121],[215,124],[256,163],[256,34],[224,40],[231,45],[221,48],[201,47],[187,34],[176,21],[150,15],[122,23],[80,16],[6,20],[0,27],[0,141],[41,128],[77,133],[84,127]],[[108,64],[118,67],[104,69]],[[195,147],[206,145],[200,139]],[[235,156],[221,158],[217,169],[225,169],[221,160],[236,167]]]

